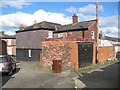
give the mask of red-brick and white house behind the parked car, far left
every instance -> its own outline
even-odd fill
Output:
[[[16,35],[6,35],[1,31],[0,39],[5,41],[7,44],[7,54],[16,56]]]

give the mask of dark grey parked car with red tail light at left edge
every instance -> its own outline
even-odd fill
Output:
[[[12,75],[16,70],[16,61],[10,55],[0,55],[0,72]]]

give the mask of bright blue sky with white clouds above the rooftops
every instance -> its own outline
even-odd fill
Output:
[[[0,2],[0,31],[14,35],[21,24],[27,27],[35,20],[38,23],[49,21],[62,25],[70,24],[73,14],[78,15],[79,22],[94,20],[96,18],[95,1],[2,0]],[[117,0],[109,0],[109,2],[99,0],[99,32],[118,37],[118,5],[120,3]]]

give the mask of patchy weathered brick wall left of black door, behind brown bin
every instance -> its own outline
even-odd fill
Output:
[[[75,41],[45,41],[40,63],[52,69],[53,60],[62,61],[62,70],[78,68],[78,47]]]

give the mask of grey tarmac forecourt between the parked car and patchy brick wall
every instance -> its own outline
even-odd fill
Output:
[[[22,62],[19,71],[9,76],[3,76],[4,88],[73,88],[71,73],[56,74],[34,69],[34,62]],[[73,75],[74,76],[74,75]]]

